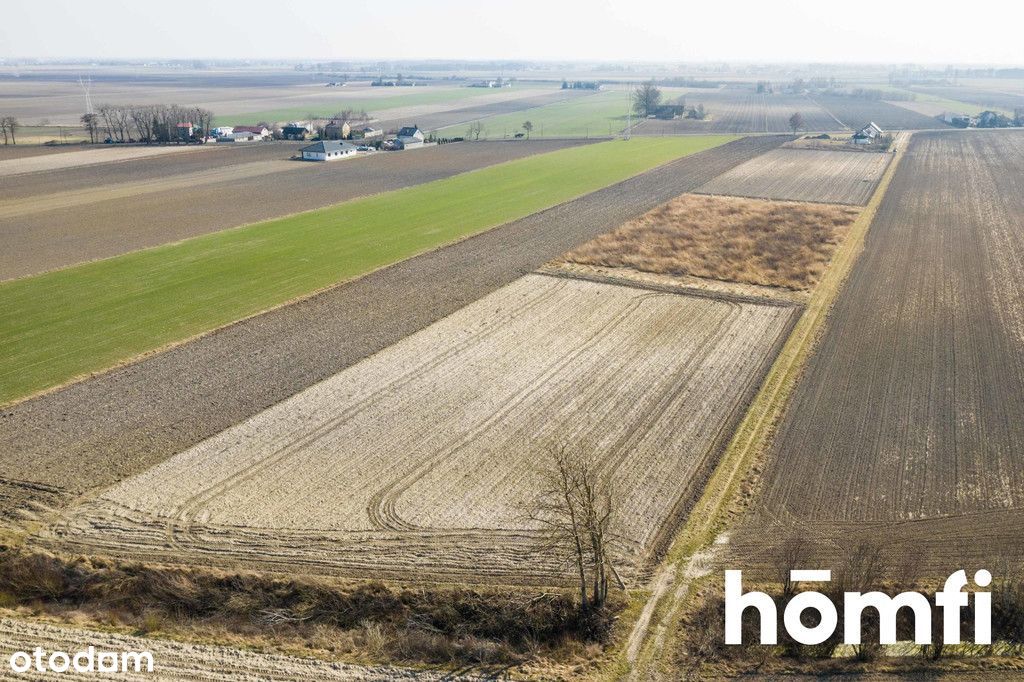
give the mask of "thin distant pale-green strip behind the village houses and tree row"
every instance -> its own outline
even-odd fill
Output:
[[[494,94],[489,88],[440,87],[424,86],[418,88],[383,88],[389,94],[376,97],[360,96],[352,93],[346,96],[344,88],[334,90],[336,96],[310,98],[302,106],[273,109],[264,112],[248,112],[243,114],[223,114],[215,116],[214,125],[255,125],[260,122],[278,123],[282,121],[301,121],[309,118],[326,118],[338,112],[351,109],[356,112],[366,111],[380,114],[398,106],[417,106],[420,104],[440,104],[444,102],[458,103],[485,94]],[[391,94],[393,93],[393,94]],[[470,103],[466,104],[471,105]],[[310,117],[312,115],[312,117]]]

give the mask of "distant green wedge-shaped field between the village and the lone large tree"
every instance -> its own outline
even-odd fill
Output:
[[[602,90],[586,97],[577,97],[515,114],[503,114],[480,119],[481,137],[511,137],[522,132],[522,124],[534,124],[531,137],[603,137],[614,135],[626,127],[629,94],[626,90]],[[442,135],[464,134],[469,124],[449,126]]]

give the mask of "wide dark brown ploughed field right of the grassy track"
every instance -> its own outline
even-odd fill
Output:
[[[787,535],[823,552],[883,538],[945,574],[1024,550],[1022,218],[1024,133],[913,136],[738,555]]]

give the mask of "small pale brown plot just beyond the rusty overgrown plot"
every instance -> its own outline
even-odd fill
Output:
[[[719,175],[697,191],[863,206],[891,159],[891,154],[883,153],[772,150]]]

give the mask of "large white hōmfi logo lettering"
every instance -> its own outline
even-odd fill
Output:
[[[828,583],[830,570],[792,570],[794,583]],[[976,586],[988,587],[992,574],[981,569],[974,574]],[[969,603],[969,593],[964,591],[969,581],[967,572],[957,570],[946,579],[942,590],[935,595],[935,605],[942,609],[942,641],[944,644],[961,643],[961,609]],[[988,592],[974,592],[974,641],[976,644],[992,643],[992,596]],[[896,614],[901,608],[913,612],[913,641],[932,644],[932,603],[920,592],[901,592],[889,596],[883,592],[843,593],[843,642],[861,644],[861,613],[865,608],[879,613],[880,644],[896,643]],[[725,571],[725,643],[742,644],[742,616],[748,608],[755,608],[761,617],[761,643],[778,644],[778,608],[775,601],[764,592],[743,593],[742,571]],[[813,627],[804,625],[802,614],[817,611],[818,622]],[[798,593],[785,605],[782,624],[793,639],[801,644],[820,644],[831,637],[839,626],[839,609],[833,600],[815,591]]]

